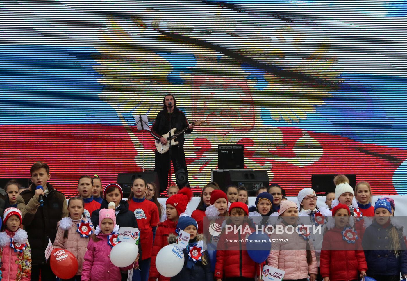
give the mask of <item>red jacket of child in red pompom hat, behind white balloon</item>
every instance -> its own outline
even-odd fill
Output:
[[[151,255],[151,266],[150,266],[150,273],[149,279],[155,280],[158,278],[158,281],[169,281],[171,278],[164,277],[158,273],[157,268],[155,267],[155,257],[157,257],[158,252],[164,247],[168,245],[168,236],[173,233],[177,235],[175,232],[177,229],[177,222],[173,222],[171,220],[165,220],[164,222],[160,222],[157,226],[157,230],[155,231],[155,239],[153,244],[153,252]]]

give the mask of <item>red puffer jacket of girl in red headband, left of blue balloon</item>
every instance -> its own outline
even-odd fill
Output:
[[[247,226],[244,223],[242,226],[242,231]],[[252,229],[252,233],[254,230]],[[255,263],[247,254],[245,239],[250,233],[241,234],[237,231],[234,234],[233,231],[227,234],[222,232],[219,237],[217,252],[216,252],[216,264],[214,279],[223,279],[229,277],[245,277],[254,278],[260,275],[260,266]],[[228,240],[228,241],[226,241]],[[243,242],[236,242],[230,240],[243,240]],[[263,264],[261,267],[263,268]]]

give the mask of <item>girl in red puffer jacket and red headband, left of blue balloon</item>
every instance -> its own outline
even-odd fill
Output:
[[[249,225],[249,209],[242,202],[233,202],[229,208],[229,225],[242,226],[242,230]],[[252,229],[252,233],[254,229]],[[246,234],[240,231],[222,231],[218,250],[216,253],[216,264],[214,279],[216,281],[253,281],[255,277],[260,279],[260,266],[255,263],[245,250]],[[228,242],[236,240],[236,242]],[[237,242],[243,241],[243,242]]]

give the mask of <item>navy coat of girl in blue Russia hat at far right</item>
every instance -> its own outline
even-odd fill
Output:
[[[396,257],[394,250],[391,249],[389,235],[392,227],[392,224],[381,226],[376,220],[373,220],[372,225],[365,230],[362,246],[368,263],[368,276],[372,274],[399,275],[400,272],[407,274],[407,250],[403,230],[396,228],[401,248]]]

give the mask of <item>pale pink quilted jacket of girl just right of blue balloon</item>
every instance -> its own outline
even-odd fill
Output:
[[[280,223],[285,227],[285,224]],[[309,240],[312,262],[306,261],[306,241],[295,231],[292,234],[273,234],[271,252],[267,265],[285,271],[284,279],[304,279],[311,273],[318,273],[317,258],[312,242]],[[280,241],[278,241],[280,239]]]

